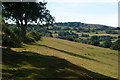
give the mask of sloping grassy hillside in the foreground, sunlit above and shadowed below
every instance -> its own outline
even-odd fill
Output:
[[[43,37],[21,48],[3,48],[3,79],[117,78],[118,52]]]

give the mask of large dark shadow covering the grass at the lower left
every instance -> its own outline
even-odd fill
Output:
[[[65,59],[33,52],[16,52],[3,48],[3,80],[58,80],[58,79],[109,79]],[[77,71],[77,72],[76,72]]]

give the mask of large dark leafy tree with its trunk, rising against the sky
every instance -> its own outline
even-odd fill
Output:
[[[3,2],[2,15],[5,20],[12,20],[21,29],[23,41],[26,39],[26,29],[29,23],[52,25],[54,17],[46,9],[46,2]]]

